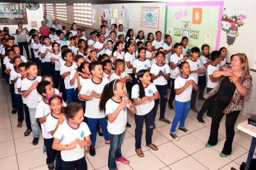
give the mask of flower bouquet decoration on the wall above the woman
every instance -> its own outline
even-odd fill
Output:
[[[227,44],[233,45],[237,36],[239,36],[238,28],[244,25],[244,19],[246,19],[245,15],[232,15],[228,17],[228,15],[223,15],[221,18],[222,24],[221,29],[227,34]]]

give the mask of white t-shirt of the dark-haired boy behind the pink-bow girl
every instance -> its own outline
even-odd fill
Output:
[[[49,103],[45,103],[44,100],[40,101],[40,103],[36,106],[36,115],[35,118],[42,118],[45,117],[47,114],[51,113]],[[47,123],[44,122],[41,124],[42,128],[42,136],[44,139],[51,139],[52,134],[47,130]]]

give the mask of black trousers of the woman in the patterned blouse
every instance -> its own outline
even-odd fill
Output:
[[[208,140],[208,143],[212,146],[218,143],[218,130],[220,127],[221,118],[224,116],[224,113],[222,113],[224,109],[225,107],[221,107],[220,103],[216,102],[214,104],[214,110],[212,113],[211,133]],[[232,152],[232,143],[235,135],[234,126],[236,124],[239,113],[240,111],[232,111],[226,115],[226,141],[223,146],[223,150],[221,151],[226,155],[230,155]]]

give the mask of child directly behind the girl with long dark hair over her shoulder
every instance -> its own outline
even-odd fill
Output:
[[[139,48],[138,50],[138,59],[134,60],[132,64],[132,73],[137,74],[141,69],[147,69],[150,71],[150,60],[146,58],[146,49]]]

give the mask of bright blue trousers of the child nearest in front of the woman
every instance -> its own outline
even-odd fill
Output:
[[[180,127],[185,127],[185,120],[188,115],[189,107],[190,101],[175,101],[175,117],[172,121],[171,133],[175,132],[178,122],[180,122]]]

